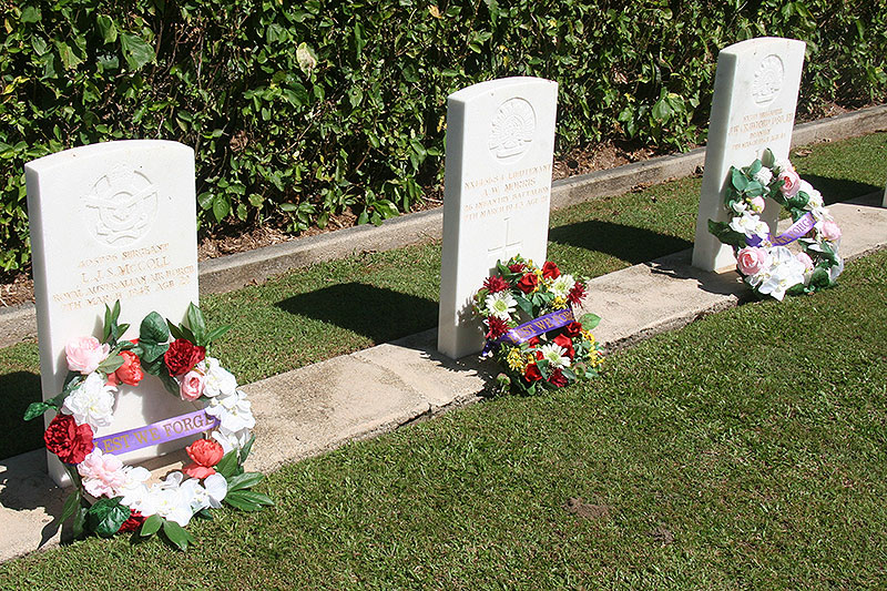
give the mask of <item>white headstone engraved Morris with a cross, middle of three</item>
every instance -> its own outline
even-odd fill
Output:
[[[450,358],[483,346],[471,296],[496,262],[546,258],[557,110],[558,84],[539,78],[448,98],[438,349]]]

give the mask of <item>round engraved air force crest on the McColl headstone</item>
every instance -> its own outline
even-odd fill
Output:
[[[96,241],[126,246],[151,228],[157,213],[157,190],[143,173],[120,166],[95,182],[83,205],[86,226]]]

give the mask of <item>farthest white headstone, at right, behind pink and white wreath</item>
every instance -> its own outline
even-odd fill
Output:
[[[731,166],[750,165],[767,147],[777,159],[788,157],[804,48],[803,41],[764,37],[718,53],[693,266],[716,271],[736,264],[732,248],[708,233],[708,220],[728,221],[724,192]],[[767,200],[762,220],[774,233],[778,212]]]

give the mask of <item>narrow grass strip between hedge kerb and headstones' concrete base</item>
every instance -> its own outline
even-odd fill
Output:
[[[795,151],[793,161],[835,202],[883,188],[886,156],[887,133],[876,133],[808,146]],[[689,248],[700,185],[701,179],[684,179],[558,211],[549,258],[594,277]],[[439,269],[440,244],[429,243],[317,264],[203,297],[210,323],[235,326],[211,353],[249,383],[431,328]],[[40,398],[38,374],[34,343],[0,349],[0,395],[9,409],[0,417],[0,458],[43,445],[40,421],[19,420]]]

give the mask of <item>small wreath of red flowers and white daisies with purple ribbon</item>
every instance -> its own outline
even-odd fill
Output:
[[[585,281],[550,261],[539,268],[520,255],[497,262],[496,269],[475,295],[473,309],[487,339],[482,356],[504,368],[500,390],[532,395],[597,376],[603,349],[590,330],[601,319],[585,314],[577,320],[572,310],[585,296]]]

